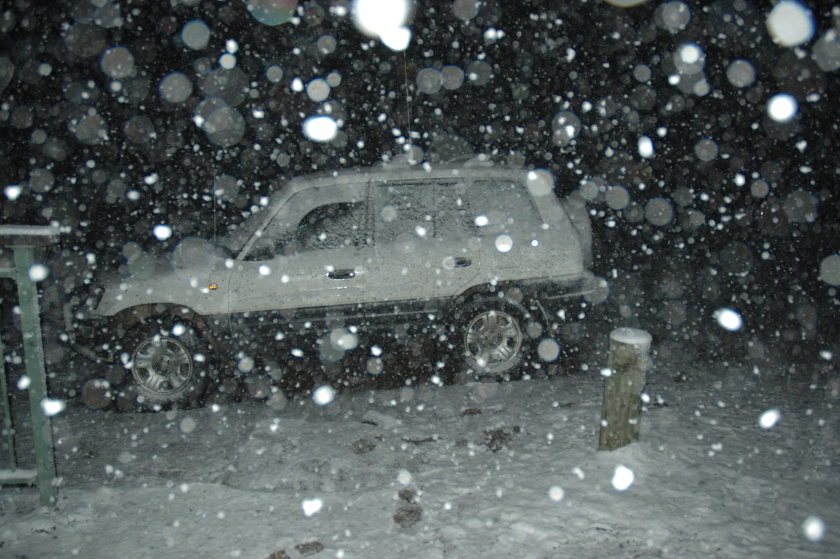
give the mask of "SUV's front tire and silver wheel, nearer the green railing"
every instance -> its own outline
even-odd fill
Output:
[[[144,319],[125,335],[122,361],[128,369],[123,393],[136,393],[140,407],[197,402],[207,385],[212,346],[197,328],[171,316]],[[205,356],[203,359],[198,356]],[[134,398],[133,398],[134,399]]]

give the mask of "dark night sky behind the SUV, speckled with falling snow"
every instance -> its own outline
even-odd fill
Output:
[[[54,299],[95,267],[123,264],[129,241],[165,252],[188,235],[213,235],[214,227],[239,222],[288,177],[398,154],[410,114],[410,129],[419,134],[414,143],[429,161],[466,146],[549,169],[562,195],[582,182],[601,185],[590,200],[595,271],[610,278],[612,297],[594,316],[638,321],[660,340],[711,340],[711,351],[737,355],[759,341],[810,358],[837,343],[837,294],[817,279],[822,260],[840,250],[840,80],[812,55],[816,40],[840,19],[827,8],[809,3],[814,38],[783,48],[769,37],[765,3],[742,0],[686,2],[685,29],[664,29],[665,3],[657,2],[616,8],[533,0],[512,8],[490,0],[470,21],[456,18],[449,2],[417,3],[411,45],[394,52],[339,14],[347,3],[300,2],[297,18],[276,27],[258,23],[239,0],[187,3],[194,5],[121,2],[120,22],[106,17],[114,6],[102,11],[105,2],[96,3],[105,7],[99,12],[87,0],[3,3],[0,177],[3,186],[24,187],[18,198],[2,198],[3,221],[66,227],[53,266]],[[200,51],[180,39],[195,18],[211,29]],[[504,35],[488,40],[488,29]],[[325,36],[336,44],[327,53],[319,42]],[[221,91],[244,132],[222,146],[192,117],[230,39],[239,44],[237,65],[223,77],[239,87]],[[673,55],[687,43],[705,54],[705,95],[669,83]],[[100,61],[118,45],[134,56],[134,71],[114,80]],[[736,59],[753,65],[753,84],[729,82],[727,68]],[[467,78],[456,89],[419,90],[423,68],[468,72],[475,61],[490,65],[486,83]],[[272,65],[283,70],[279,82],[266,78]],[[649,80],[638,79],[640,65],[649,68]],[[192,81],[183,103],[160,98],[158,83],[172,71]],[[332,88],[329,109],[344,123],[339,139],[319,144],[304,137],[301,125],[325,107],[292,85],[296,77],[306,85],[331,72],[340,85]],[[777,92],[799,103],[789,124],[767,115]],[[553,141],[561,111],[580,119],[568,145]],[[86,121],[92,114],[100,119]],[[104,123],[107,139],[84,140],[82,122]],[[639,155],[642,136],[654,139],[652,158]],[[704,139],[717,145],[711,161],[696,153]],[[223,175],[239,181],[239,195],[214,204],[214,177]],[[757,181],[766,183],[767,196],[754,195]],[[612,186],[626,188],[638,205],[612,209],[604,196]],[[644,219],[653,198],[674,209],[669,224]],[[797,214],[802,201],[816,202],[815,219]],[[151,235],[159,223],[172,225],[171,240]],[[97,266],[89,252],[97,254]],[[741,332],[722,335],[710,318],[722,306],[743,314]]]

